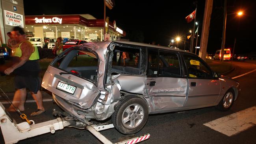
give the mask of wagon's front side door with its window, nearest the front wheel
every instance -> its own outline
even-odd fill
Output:
[[[197,55],[182,54],[189,84],[188,98],[184,107],[214,105],[220,93],[220,81],[213,78],[210,67]]]

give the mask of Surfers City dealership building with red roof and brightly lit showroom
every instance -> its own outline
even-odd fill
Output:
[[[106,23],[109,40],[119,40],[126,35],[114,22]],[[104,20],[92,15],[36,15],[25,16],[28,37],[69,38],[89,41],[103,41]]]

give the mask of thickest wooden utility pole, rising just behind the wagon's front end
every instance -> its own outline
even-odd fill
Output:
[[[211,20],[211,11],[213,6],[213,0],[206,0],[204,7],[204,20],[202,23],[202,34],[200,41],[200,50],[199,57],[204,61],[206,60],[206,50],[209,36],[210,20]]]

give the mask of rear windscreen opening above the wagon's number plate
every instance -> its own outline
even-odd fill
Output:
[[[58,59],[58,60],[57,60]],[[93,52],[84,50],[69,50],[52,65],[69,74],[86,79],[93,83],[98,81],[98,58]]]

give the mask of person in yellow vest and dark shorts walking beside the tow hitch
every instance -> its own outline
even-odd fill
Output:
[[[37,103],[37,111],[33,112],[31,116],[35,116],[45,112],[43,107],[42,93],[39,90],[41,88],[41,79],[39,78],[39,73],[41,71],[39,65],[39,53],[36,47],[27,41],[25,31],[23,28],[15,26],[13,31],[11,31],[13,39],[17,41],[17,48],[13,56],[17,59],[17,62],[11,67],[7,68],[4,73],[9,75],[12,72],[15,74],[14,82],[15,91],[13,102],[19,101],[20,103],[15,103],[20,111],[24,111],[24,104],[26,102],[27,90],[28,88]],[[13,105],[11,105],[7,111],[15,111]]]

